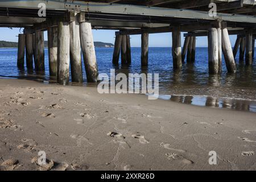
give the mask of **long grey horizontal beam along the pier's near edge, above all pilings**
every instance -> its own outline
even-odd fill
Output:
[[[45,3],[47,10],[74,10],[89,11],[98,13],[113,14],[133,14],[133,15],[149,15],[149,16],[165,16],[172,18],[189,18],[189,19],[207,19],[207,20],[223,20],[227,22],[244,22],[255,23],[256,17],[240,14],[217,13],[217,16],[209,16],[207,11],[168,9],[163,7],[147,7],[135,5],[120,5],[110,3],[97,2],[78,2],[78,1],[0,1],[0,7],[13,7],[21,9],[38,9],[39,3]]]

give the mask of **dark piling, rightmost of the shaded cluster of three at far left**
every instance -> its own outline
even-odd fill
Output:
[[[42,31],[36,31],[36,65],[37,71],[44,71],[44,33]]]

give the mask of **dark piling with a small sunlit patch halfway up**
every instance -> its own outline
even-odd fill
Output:
[[[174,64],[174,70],[181,69],[181,36],[179,30],[172,31],[172,60]]]

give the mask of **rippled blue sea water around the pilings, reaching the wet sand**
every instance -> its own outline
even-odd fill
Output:
[[[17,49],[0,49],[0,77],[27,78],[51,82],[48,69],[48,51],[45,49],[45,73],[36,75],[26,67],[16,67]],[[98,70],[110,74],[110,69],[117,73],[159,73],[159,92],[161,98],[184,104],[221,107],[256,112],[256,59],[250,67],[239,63],[237,55],[237,73],[228,74],[223,60],[221,75],[210,76],[208,73],[207,48],[196,48],[194,64],[184,64],[180,72],[172,69],[171,48],[149,48],[148,68],[141,68],[141,48],[131,48],[132,64],[118,67],[112,64],[113,48],[96,48]],[[25,60],[26,62],[26,60]],[[83,65],[83,77],[86,83]]]

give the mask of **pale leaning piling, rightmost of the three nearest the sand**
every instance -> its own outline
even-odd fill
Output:
[[[90,23],[80,22],[80,36],[87,81],[97,82],[98,66],[93,43],[92,25]]]

